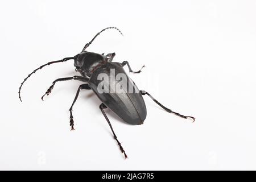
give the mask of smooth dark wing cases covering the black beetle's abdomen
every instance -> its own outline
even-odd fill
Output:
[[[110,71],[114,76],[117,77],[118,73],[123,73],[122,83],[127,83],[127,88],[121,86],[121,82],[118,79],[111,79]],[[105,73],[109,79],[104,77],[104,80],[99,79],[100,73]],[[101,85],[108,85],[108,89],[104,88],[102,93]],[[115,114],[117,114],[123,121],[130,123],[132,125],[141,125],[146,119],[146,105],[142,98],[141,93],[134,82],[126,75],[119,63],[106,63],[101,66],[101,69],[96,69],[92,73],[89,80],[90,88],[97,94],[98,98],[109,107]],[[119,90],[113,90],[114,88],[119,88]],[[132,92],[131,92],[132,91]]]

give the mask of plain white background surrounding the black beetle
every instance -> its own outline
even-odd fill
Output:
[[[0,169],[256,169],[256,1],[1,1]],[[144,97],[147,118],[132,126],[106,110],[129,159],[124,160],[101,114],[82,90],[73,61],[48,61],[88,48],[127,60],[142,90],[188,119]],[[125,68],[127,71],[127,68]]]

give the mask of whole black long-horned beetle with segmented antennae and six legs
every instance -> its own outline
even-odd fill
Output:
[[[102,31],[98,32],[98,34],[96,34],[89,43],[85,44],[82,51],[76,56],[65,57],[64,59],[57,60],[57,61],[51,61],[47,64],[40,66],[39,68],[36,68],[32,73],[30,73],[26,78],[24,78],[23,82],[20,84],[18,93],[19,93],[19,99],[20,101],[22,101],[20,97],[20,90],[22,88],[22,85],[24,84],[24,82],[27,80],[28,77],[30,77],[33,73],[35,73],[39,69],[42,69],[43,67],[46,67],[47,65],[51,65],[54,63],[62,63],[68,60],[74,60],[75,71],[79,72],[81,76],[64,77],[64,78],[56,79],[55,81],[52,82],[52,85],[49,87],[46,93],[42,96],[42,100],[44,96],[46,95],[48,96],[49,93],[52,92],[52,89],[55,86],[56,82],[67,81],[67,80],[79,80],[79,81],[85,82],[85,84],[80,85],[79,88],[77,89],[75,99],[73,100],[73,103],[69,109],[69,112],[70,112],[69,123],[71,126],[71,130],[75,130],[72,109],[73,109],[73,105],[77,100],[77,97],[79,96],[80,90],[83,90],[83,89],[93,90],[93,92],[97,95],[97,97],[102,101],[102,104],[100,105],[100,110],[104,115],[106,121],[108,122],[110,129],[112,130],[114,139],[118,143],[119,149],[125,155],[125,159],[126,159],[127,155],[125,153],[125,150],[123,150],[121,143],[118,141],[117,135],[115,135],[113,127],[104,109],[109,108],[115,114],[117,114],[121,119],[123,119],[123,121],[131,125],[142,125],[147,115],[146,105],[142,96],[147,95],[156,104],[158,104],[160,107],[162,107],[164,110],[168,111],[169,113],[176,114],[179,117],[185,118],[185,119],[191,118],[193,119],[193,122],[195,121],[195,118],[176,113],[171,109],[168,109],[167,107],[160,104],[160,102],[155,100],[155,98],[152,97],[148,92],[144,90],[139,90],[138,87],[135,85],[135,83],[129,78],[129,76],[123,69],[123,67],[127,65],[127,67],[129,68],[129,72],[140,73],[141,69],[144,66],[139,71],[135,72],[131,69],[128,61],[123,61],[122,63],[113,62],[115,53],[108,53],[107,55],[104,55],[104,53],[99,54],[99,53],[85,51],[85,49],[88,48],[90,44],[92,44],[93,40],[96,39],[96,37],[100,35],[101,32],[107,29],[115,29],[119,31],[121,35],[123,35],[122,32],[117,27],[104,28]],[[112,71],[114,71],[114,73],[112,73]],[[101,79],[99,79],[99,77],[102,74],[104,74],[104,76],[107,76],[107,77],[101,77]],[[118,75],[122,75],[123,76],[122,79],[111,79],[112,76],[117,77]],[[124,82],[121,80],[125,80],[126,81],[125,84],[123,84]],[[129,91],[132,90],[131,92],[128,92],[127,89],[125,89],[127,88],[126,84],[129,85],[128,86]],[[119,88],[119,91],[121,90],[122,92],[120,93],[119,92],[110,92],[110,93],[102,92],[101,90],[102,88],[104,91],[106,90],[109,91],[109,88],[110,88],[110,91],[113,91],[113,88]],[[114,89],[114,91],[116,90]]]

